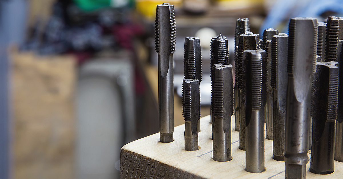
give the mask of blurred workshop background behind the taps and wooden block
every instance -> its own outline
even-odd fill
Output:
[[[158,132],[156,4],[175,5],[175,126],[185,37],[200,37],[201,116],[210,41],[237,18],[287,33],[290,17],[343,16],[340,0],[0,0],[0,178],[116,179],[120,148]]]

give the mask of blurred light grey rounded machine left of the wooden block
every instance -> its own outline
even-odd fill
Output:
[[[81,66],[78,178],[119,178],[120,148],[135,139],[133,76],[127,57],[96,59]]]

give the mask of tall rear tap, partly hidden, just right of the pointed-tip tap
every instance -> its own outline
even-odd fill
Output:
[[[236,21],[236,30],[235,30],[235,74],[236,72],[236,54],[237,54],[237,48],[239,43],[239,35],[244,34],[245,32],[250,32],[250,24],[248,18],[239,18]],[[243,51],[242,51],[243,53]],[[236,78],[236,77],[235,77]],[[234,86],[234,113],[236,118],[236,124],[235,124],[235,130],[239,131],[239,89],[235,83]]]

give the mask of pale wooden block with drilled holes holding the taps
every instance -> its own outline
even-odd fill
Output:
[[[285,163],[275,161],[273,141],[265,139],[265,168],[262,173],[253,174],[245,171],[245,151],[238,149],[239,132],[234,130],[235,116],[232,116],[232,160],[216,162],[212,159],[212,133],[210,116],[200,119],[198,151],[184,150],[185,125],[174,128],[174,141],[159,142],[159,133],[126,144],[121,149],[121,178],[240,178],[258,179],[285,178]],[[310,158],[310,153],[308,154]],[[335,171],[329,175],[317,175],[309,172],[307,164],[306,177],[341,178],[343,163],[335,161]]]

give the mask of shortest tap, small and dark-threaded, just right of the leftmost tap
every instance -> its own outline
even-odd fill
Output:
[[[185,150],[198,150],[198,122],[200,119],[199,80],[182,82],[182,111],[185,118]]]

